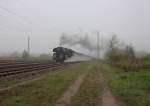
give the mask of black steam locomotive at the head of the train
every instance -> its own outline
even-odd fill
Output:
[[[56,62],[64,62],[66,59],[72,57],[74,53],[72,49],[57,47],[53,49],[53,60]]]

